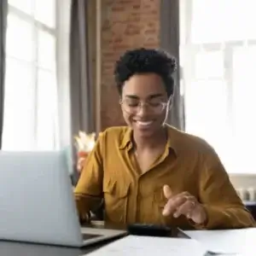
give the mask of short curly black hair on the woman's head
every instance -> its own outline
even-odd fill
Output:
[[[132,75],[139,73],[156,73],[163,79],[167,96],[174,92],[172,73],[177,69],[177,62],[172,55],[161,49],[131,49],[127,50],[115,64],[114,77],[119,95],[123,85]]]

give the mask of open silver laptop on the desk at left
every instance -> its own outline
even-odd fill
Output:
[[[83,247],[125,233],[81,229],[64,152],[0,151],[0,240]]]

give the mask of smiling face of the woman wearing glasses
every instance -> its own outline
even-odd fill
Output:
[[[125,81],[121,107],[134,132],[150,137],[166,121],[170,101],[163,80],[155,73],[135,74]]]

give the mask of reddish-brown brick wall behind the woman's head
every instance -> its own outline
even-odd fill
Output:
[[[160,0],[102,1],[102,130],[124,124],[113,80],[114,62],[126,49],[159,47]]]

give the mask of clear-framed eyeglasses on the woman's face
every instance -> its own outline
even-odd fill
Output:
[[[127,113],[138,113],[141,108],[147,107],[149,113],[160,114],[166,109],[167,102],[139,102],[130,99],[120,101],[123,109]]]

